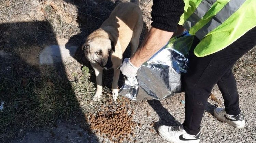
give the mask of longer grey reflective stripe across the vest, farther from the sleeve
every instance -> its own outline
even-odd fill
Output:
[[[214,1],[214,0],[213,0]],[[227,20],[246,0],[230,0],[206,25],[196,32],[196,37],[202,40],[209,32]]]

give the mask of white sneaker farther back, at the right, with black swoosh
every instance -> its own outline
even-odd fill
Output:
[[[218,120],[227,122],[235,128],[241,129],[245,127],[244,115],[242,113],[237,116],[229,115],[224,108],[215,108],[213,113]]]

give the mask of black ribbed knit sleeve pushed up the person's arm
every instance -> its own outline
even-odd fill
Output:
[[[153,0],[151,26],[168,32],[176,32],[184,6],[183,0]]]

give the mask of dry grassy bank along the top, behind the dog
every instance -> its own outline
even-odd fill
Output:
[[[58,38],[87,36],[108,18],[119,2],[129,0],[0,0],[0,21],[49,21]],[[152,0],[141,0],[145,27],[150,27]],[[145,33],[144,33],[145,32]]]

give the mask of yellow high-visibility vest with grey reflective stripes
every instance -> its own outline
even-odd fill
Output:
[[[179,25],[200,39],[194,49],[204,57],[224,49],[256,26],[256,0],[184,0]]]

